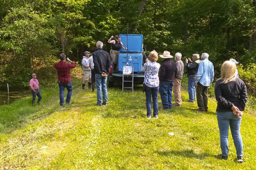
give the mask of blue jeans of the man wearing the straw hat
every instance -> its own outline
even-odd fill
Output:
[[[161,81],[159,91],[164,109],[172,109],[173,82]]]

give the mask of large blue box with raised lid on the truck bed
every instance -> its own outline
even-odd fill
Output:
[[[125,65],[131,65],[134,71],[134,84],[143,84],[144,73],[141,72],[143,65],[143,35],[120,34],[124,47],[128,51],[120,49],[118,55],[118,72],[109,74],[108,86],[113,86],[114,82],[122,82],[122,69]]]

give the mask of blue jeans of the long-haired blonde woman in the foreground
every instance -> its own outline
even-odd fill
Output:
[[[240,134],[241,120],[237,115],[230,112],[217,112],[218,125],[220,129],[220,147],[221,155],[228,156],[228,128],[230,126],[231,134],[236,146],[237,156],[243,156],[243,141]]]

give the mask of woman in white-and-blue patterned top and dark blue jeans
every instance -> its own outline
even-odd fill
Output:
[[[158,71],[160,64],[157,63],[158,54],[156,50],[152,50],[148,56],[148,62],[143,65],[144,74],[144,84],[146,93],[146,106],[147,106],[147,118],[151,118],[151,97],[153,100],[153,116],[158,118],[158,91],[159,91],[159,77]]]

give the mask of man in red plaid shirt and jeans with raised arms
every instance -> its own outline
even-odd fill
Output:
[[[72,96],[72,82],[70,79],[70,69],[76,67],[76,63],[74,61],[71,61],[69,58],[67,58],[67,61],[70,63],[65,62],[66,61],[66,55],[64,53],[61,53],[60,61],[58,63],[55,63],[54,67],[57,69],[58,72],[58,84],[60,88],[60,105],[64,105],[64,90],[67,88],[67,98],[66,98],[66,104],[70,104],[70,99]]]

